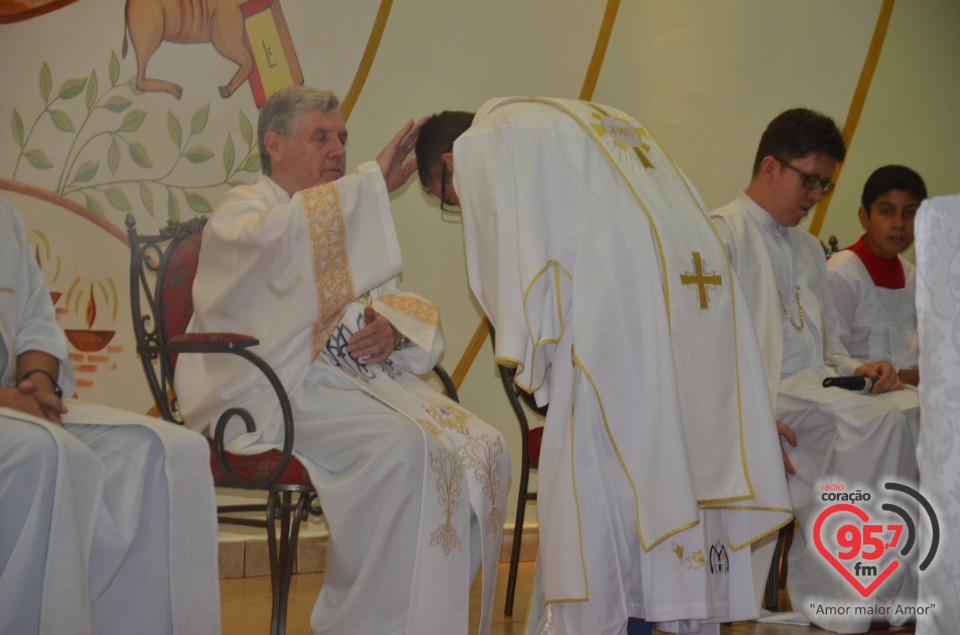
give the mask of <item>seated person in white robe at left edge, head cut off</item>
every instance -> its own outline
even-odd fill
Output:
[[[61,396],[67,341],[0,199],[0,633],[220,633],[210,450]]]

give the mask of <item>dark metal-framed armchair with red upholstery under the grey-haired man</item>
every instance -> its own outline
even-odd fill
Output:
[[[160,416],[182,424],[173,378],[181,354],[237,355],[263,373],[273,388],[283,418],[283,445],[279,450],[238,455],[227,452],[228,425],[242,422],[247,432],[256,422],[243,408],[228,408],[219,419],[210,443],[210,464],[217,487],[259,490],[265,504],[221,505],[217,520],[224,524],[262,527],[267,531],[273,605],[270,633],[286,630],[287,599],[297,554],[300,523],[323,513],[317,492],[303,464],[292,455],[294,421],[290,399],[276,372],[251,349],[256,338],[238,333],[186,333],[193,315],[193,280],[197,272],[205,217],[170,223],[157,235],[141,236],[133,216],[127,215],[130,241],[130,303],[137,354]],[[457,401],[457,391],[442,367],[434,372],[447,395]],[[250,518],[251,512],[264,514]],[[237,517],[235,514],[246,514]],[[277,535],[277,523],[280,533]]]

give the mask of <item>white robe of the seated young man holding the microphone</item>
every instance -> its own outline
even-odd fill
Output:
[[[797,470],[787,481],[800,527],[790,550],[791,603],[822,628],[866,631],[870,615],[854,616],[851,609],[848,616],[835,616],[811,608],[864,602],[811,538],[829,504],[821,487],[839,482],[849,491],[882,492],[890,479],[916,484],[917,394],[824,388],[825,377],[851,375],[867,360],[851,357],[840,342],[820,243],[804,229],[780,226],[746,194],[712,216],[753,316],[777,419],[797,435],[798,447],[784,445]],[[909,603],[915,597],[916,567],[905,566],[870,601]]]

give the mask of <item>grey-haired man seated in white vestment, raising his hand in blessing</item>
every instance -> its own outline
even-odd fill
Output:
[[[295,86],[260,111],[263,174],[227,192],[204,228],[190,329],[257,337],[290,395],[293,453],[330,529],[313,632],[466,633],[482,562],[488,633],[506,445],[416,377],[443,350],[440,317],[397,285],[388,193],[416,169],[405,160],[422,122],[345,176],[338,106],[328,91]],[[239,406],[257,429],[227,449],[277,447],[281,413],[265,378],[230,356],[189,357],[176,376],[187,425],[209,434]]]

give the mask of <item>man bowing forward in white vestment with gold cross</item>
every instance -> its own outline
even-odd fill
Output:
[[[752,618],[749,545],[789,500],[750,316],[693,186],[639,121],[571,100],[435,115],[417,160],[462,207],[497,361],[549,403],[528,632]]]

